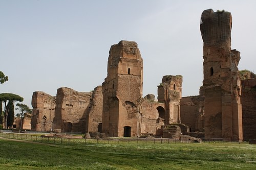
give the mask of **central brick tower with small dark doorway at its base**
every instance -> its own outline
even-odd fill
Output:
[[[108,76],[102,83],[102,132],[109,136],[140,134],[143,60],[136,42],[120,41],[110,48]]]

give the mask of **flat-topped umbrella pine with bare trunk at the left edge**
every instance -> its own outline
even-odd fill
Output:
[[[17,94],[1,93],[0,94],[0,102],[4,102],[4,104],[5,104],[4,128],[7,128],[7,117],[9,114],[9,109],[7,108],[7,104],[15,103],[15,102],[23,102],[23,98]]]

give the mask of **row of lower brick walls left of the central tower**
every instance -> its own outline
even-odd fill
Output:
[[[101,86],[92,92],[57,89],[56,97],[36,91],[32,96],[31,130],[62,132],[98,131],[102,122]],[[101,129],[101,128],[100,128]]]

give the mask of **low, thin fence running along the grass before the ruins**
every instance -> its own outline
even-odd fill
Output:
[[[169,144],[169,143],[189,143],[190,139],[165,139],[165,138],[107,138],[107,139],[89,139],[89,138],[67,138],[67,137],[52,137],[45,135],[35,135],[26,133],[6,133],[0,132],[0,137],[28,140],[42,143],[55,144]],[[222,138],[204,139],[205,142],[221,142]]]

